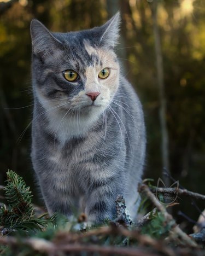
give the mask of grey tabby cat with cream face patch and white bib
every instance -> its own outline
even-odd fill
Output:
[[[49,214],[114,219],[125,197],[132,219],[145,158],[136,92],[114,53],[120,14],[100,27],[52,33],[31,21],[34,109],[31,158]]]

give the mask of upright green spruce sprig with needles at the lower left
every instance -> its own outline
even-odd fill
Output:
[[[4,188],[8,206],[0,209],[0,225],[13,231],[16,229],[31,230],[42,229],[53,219],[46,219],[47,214],[39,218],[34,216],[34,207],[30,187],[26,187],[25,181],[17,173],[7,172],[7,185]]]

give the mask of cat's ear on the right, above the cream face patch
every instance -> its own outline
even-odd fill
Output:
[[[103,46],[114,48],[118,43],[120,30],[120,12],[116,13],[110,20],[106,22],[101,29],[101,38],[99,43]]]

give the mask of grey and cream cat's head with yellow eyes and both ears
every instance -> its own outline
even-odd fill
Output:
[[[46,108],[72,114],[102,112],[109,105],[119,85],[119,22],[117,13],[101,27],[52,33],[32,20],[33,89]]]

